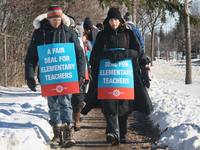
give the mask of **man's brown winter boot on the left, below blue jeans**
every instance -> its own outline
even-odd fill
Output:
[[[49,141],[49,145],[52,147],[59,146],[60,143],[62,142],[61,124],[52,126],[52,128],[53,128],[54,137],[51,141]]]

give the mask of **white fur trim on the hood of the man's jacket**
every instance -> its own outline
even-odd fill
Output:
[[[40,22],[44,19],[47,19],[47,13],[37,16],[33,21],[33,26],[36,29],[39,29],[40,28]],[[63,24],[69,26],[70,25],[69,17],[65,14],[62,14],[62,22],[63,22]]]

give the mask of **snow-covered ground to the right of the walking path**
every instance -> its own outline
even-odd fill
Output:
[[[185,85],[185,63],[154,62],[148,90],[150,118],[162,131],[159,144],[176,150],[200,150],[200,64],[192,63],[192,84]]]

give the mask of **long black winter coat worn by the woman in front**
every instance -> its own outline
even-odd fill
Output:
[[[109,48],[125,48],[126,50],[120,51],[122,53],[103,52],[103,49]],[[91,57],[90,65],[92,69],[93,81],[89,86],[89,91],[86,95],[86,106],[82,110],[82,114],[86,115],[92,108],[101,105],[101,100],[97,100],[97,84],[98,84],[98,71],[101,59],[116,59],[123,60],[132,58],[134,68],[134,89],[135,99],[133,100],[133,109],[140,111],[146,115],[150,114],[153,110],[151,100],[148,92],[143,85],[140,73],[140,66],[145,66],[149,63],[144,51],[142,50],[136,35],[125,26],[120,25],[117,30],[113,30],[107,23],[105,29],[98,33]],[[132,106],[132,105],[130,105]]]

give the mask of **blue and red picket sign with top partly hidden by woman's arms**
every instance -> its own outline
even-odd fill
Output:
[[[117,49],[119,48],[111,50]],[[101,60],[98,73],[98,99],[133,100],[135,98],[133,73],[131,58],[116,63],[111,63],[109,59]]]

